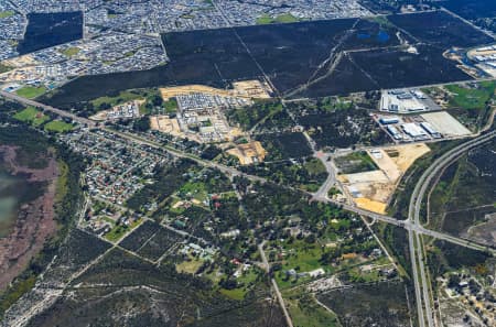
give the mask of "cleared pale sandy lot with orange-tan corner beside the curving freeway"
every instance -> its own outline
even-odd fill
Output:
[[[377,165],[377,170],[339,174],[338,181],[358,207],[385,214],[401,176],[417,159],[429,151],[429,146],[423,143],[367,150],[367,154]]]

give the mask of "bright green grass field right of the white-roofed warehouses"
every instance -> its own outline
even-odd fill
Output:
[[[486,101],[495,96],[496,81],[482,81],[478,85],[478,88],[466,88],[459,85],[445,86],[453,94],[450,105],[464,109],[484,109]]]

